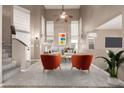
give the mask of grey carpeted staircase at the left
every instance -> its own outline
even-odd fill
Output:
[[[20,71],[20,68],[12,63],[12,47],[2,43],[2,76],[3,82],[12,78]]]

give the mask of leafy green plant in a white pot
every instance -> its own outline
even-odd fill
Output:
[[[122,56],[124,50],[119,51],[118,53],[114,53],[111,50],[107,50],[106,52],[108,57],[98,56],[96,58],[104,59],[104,61],[108,64],[106,71],[110,75],[109,83],[117,84],[118,69],[120,65],[124,63],[124,56]]]

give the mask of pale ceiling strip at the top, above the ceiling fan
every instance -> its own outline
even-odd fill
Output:
[[[62,9],[62,5],[45,5],[46,9]],[[64,9],[79,9],[80,5],[64,5]]]

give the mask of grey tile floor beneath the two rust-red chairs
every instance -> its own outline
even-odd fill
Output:
[[[63,62],[61,70],[43,72],[40,62],[20,72],[15,77],[5,81],[3,87],[124,87],[112,86],[107,82],[106,72],[92,65],[90,73],[77,69],[71,70],[70,62]]]

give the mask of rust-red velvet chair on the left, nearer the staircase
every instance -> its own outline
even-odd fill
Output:
[[[56,68],[60,68],[60,63],[61,63],[61,55],[47,55],[47,54],[42,54],[41,55],[41,62],[43,65],[43,72],[44,70],[53,70]]]

